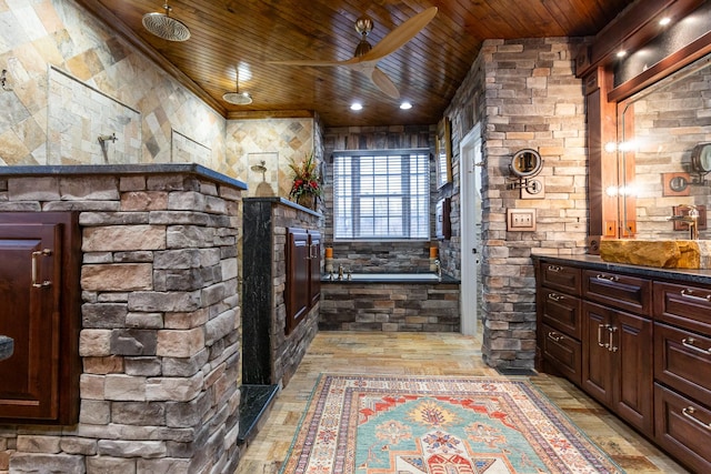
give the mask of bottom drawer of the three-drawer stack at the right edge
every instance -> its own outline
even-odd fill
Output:
[[[659,384],[654,384],[654,438],[694,472],[711,472],[711,411]]]

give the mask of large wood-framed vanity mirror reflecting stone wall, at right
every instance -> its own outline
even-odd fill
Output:
[[[688,239],[674,208],[711,204],[711,56],[618,103],[618,186],[623,236]],[[711,239],[699,225],[699,239]]]

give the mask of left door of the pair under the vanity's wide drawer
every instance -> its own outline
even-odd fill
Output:
[[[613,311],[587,301],[582,307],[582,387],[609,406],[613,390],[609,349]]]

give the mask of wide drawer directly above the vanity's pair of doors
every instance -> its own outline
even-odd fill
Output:
[[[584,270],[582,294],[587,299],[650,316],[652,282],[618,273]]]

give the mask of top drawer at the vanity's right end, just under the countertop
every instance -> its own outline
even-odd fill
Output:
[[[654,282],[654,316],[711,335],[711,289]]]

